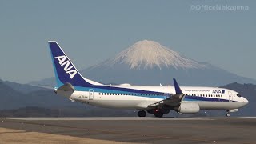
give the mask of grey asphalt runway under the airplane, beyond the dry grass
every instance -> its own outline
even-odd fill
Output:
[[[0,127],[131,143],[254,143],[256,118],[1,118]]]

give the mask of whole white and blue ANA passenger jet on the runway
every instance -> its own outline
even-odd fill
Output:
[[[170,110],[196,114],[199,110],[226,110],[226,116],[246,106],[248,100],[234,90],[218,87],[104,85],[84,78],[56,41],[48,41],[54,66],[54,92],[92,106],[138,110],[138,117],[162,118]],[[146,113],[147,112],[147,113]]]

